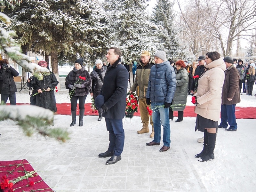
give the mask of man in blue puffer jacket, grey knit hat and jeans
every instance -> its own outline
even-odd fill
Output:
[[[150,70],[146,102],[148,105],[151,103],[153,110],[152,118],[155,135],[154,140],[146,145],[160,145],[162,124],[164,127],[164,146],[160,149],[160,152],[163,152],[170,148],[171,143],[169,109],[176,90],[176,79],[173,67],[166,60],[165,52],[156,52],[154,57],[156,65],[152,66]]]

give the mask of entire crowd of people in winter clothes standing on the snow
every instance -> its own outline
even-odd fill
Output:
[[[83,126],[84,104],[89,93],[99,111],[98,121],[105,117],[109,145],[108,150],[100,153],[99,157],[111,157],[106,164],[120,161],[124,149],[122,119],[125,116],[130,67],[127,63],[125,66],[121,62],[121,56],[120,49],[110,47],[106,55],[109,65],[97,59],[91,74],[85,69],[84,60],[77,59],[74,68],[65,79],[71,103],[70,126],[76,124],[77,101],[78,126]],[[240,102],[242,88],[247,95],[252,95],[256,80],[254,61],[250,60],[246,66],[241,59],[236,60],[231,57],[223,59],[218,52],[207,52],[205,56],[201,55],[193,62],[184,60],[175,62],[168,61],[164,51],[158,51],[154,57],[151,57],[151,53],[144,50],[138,62],[131,63],[134,84],[131,86],[129,82],[129,91],[136,92],[138,96],[142,123],[142,128],[137,133],[148,133],[149,124],[152,126],[150,138],[153,140],[146,145],[160,145],[161,126],[163,126],[164,145],[159,151],[170,149],[170,120],[174,118],[173,111],[178,111],[178,119],[175,122],[183,121],[187,97],[191,94],[196,104],[195,130],[204,132],[204,137],[197,139],[198,142],[204,143],[203,150],[195,157],[202,162],[214,159],[213,151],[218,128],[236,131],[235,107]],[[38,65],[49,69],[45,61],[38,62]],[[13,76],[18,76],[19,73],[6,59],[0,61],[0,66],[1,101],[6,103],[9,98],[10,103],[15,105],[17,89]],[[33,88],[31,105],[57,111],[54,88],[59,82],[52,72],[48,76],[43,76],[42,80],[29,78],[27,83]],[[152,109],[152,115],[147,108]],[[221,123],[218,125],[220,115]]]

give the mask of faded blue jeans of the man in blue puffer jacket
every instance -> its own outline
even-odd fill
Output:
[[[170,147],[170,144],[171,144],[171,140],[170,140],[171,128],[170,128],[170,120],[169,120],[170,108],[159,107],[163,105],[164,105],[164,102],[151,103],[151,108],[153,110],[152,120],[153,120],[154,131],[155,131],[155,136],[153,141],[156,143],[160,143],[161,124],[162,124],[162,126],[164,127],[164,136],[163,136],[164,146]]]

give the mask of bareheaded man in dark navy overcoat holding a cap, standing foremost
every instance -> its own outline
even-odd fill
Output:
[[[124,149],[124,129],[122,119],[125,116],[127,79],[126,68],[121,64],[122,52],[116,47],[110,47],[106,55],[110,64],[100,95],[104,96],[104,104],[101,107],[102,116],[105,117],[106,127],[109,132],[109,145],[105,153],[99,157],[109,157],[106,164],[115,164],[121,160]],[[97,99],[97,98],[96,98]]]

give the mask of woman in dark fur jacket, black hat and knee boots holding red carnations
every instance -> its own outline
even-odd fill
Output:
[[[71,116],[72,122],[70,127],[76,124],[76,105],[77,100],[79,100],[79,124],[78,126],[83,126],[83,118],[84,118],[84,102],[89,94],[89,90],[92,87],[92,79],[88,71],[86,71],[83,66],[84,60],[82,58],[77,59],[75,61],[75,66],[72,71],[70,71],[66,77],[65,86],[66,89],[69,89],[69,94],[74,91],[73,95],[70,95],[70,103],[71,103]],[[85,80],[79,80],[80,77],[85,77]],[[79,82],[78,82],[79,80]]]

